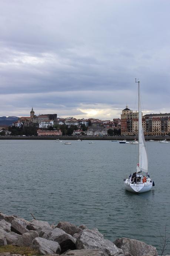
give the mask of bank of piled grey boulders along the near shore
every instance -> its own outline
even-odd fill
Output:
[[[77,227],[67,221],[50,225],[46,221],[27,221],[0,213],[0,246],[7,244],[36,249],[40,255],[158,256],[151,245],[126,237],[111,242],[96,228]]]

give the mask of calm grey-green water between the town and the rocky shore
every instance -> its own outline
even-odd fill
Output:
[[[33,213],[51,224],[66,220],[97,227],[111,241],[130,237],[160,253],[166,225],[170,236],[170,143],[146,142],[156,186],[143,194],[125,191],[123,185],[124,175],[136,170],[137,145],[71,143],[1,140],[0,211],[27,220]]]

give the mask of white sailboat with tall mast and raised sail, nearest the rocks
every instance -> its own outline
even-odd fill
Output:
[[[142,113],[140,104],[140,86],[138,83],[138,111],[139,111],[139,128],[138,128],[138,163],[136,171],[129,177],[124,178],[124,187],[126,190],[133,193],[143,193],[151,190],[154,186],[154,182],[151,180],[148,173],[148,159],[146,152],[145,139],[142,128]]]

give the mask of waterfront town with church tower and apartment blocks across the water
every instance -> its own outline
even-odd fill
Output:
[[[142,117],[144,135],[170,135],[170,113],[147,114]],[[1,136],[134,136],[138,133],[138,112],[128,106],[122,110],[120,118],[100,120],[95,118],[76,119],[73,116],[59,118],[57,114],[21,116],[9,125],[0,125]]]

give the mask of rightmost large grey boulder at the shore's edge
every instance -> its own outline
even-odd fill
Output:
[[[114,244],[123,250],[125,253],[130,253],[133,256],[151,255],[157,256],[157,250],[154,246],[148,245],[136,239],[126,237],[118,238]]]

